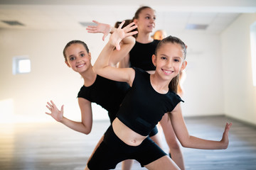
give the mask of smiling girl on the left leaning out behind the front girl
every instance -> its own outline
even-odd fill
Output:
[[[131,26],[132,25],[129,25],[127,27]],[[117,61],[119,61],[118,58],[122,55],[126,55],[133,45],[134,38],[128,37],[123,40],[122,49],[112,53],[110,64],[117,64]],[[63,106],[59,111],[53,101],[47,103],[48,105],[46,107],[50,110],[50,113],[46,114],[68,126],[68,128],[87,135],[92,129],[91,103],[97,103],[102,106],[102,108],[105,108],[108,111],[110,121],[112,122],[116,117],[125,94],[129,90],[129,85],[125,82],[112,81],[97,75],[92,69],[92,64],[90,62],[91,55],[85,42],[80,40],[68,42],[63,50],[63,55],[68,67],[71,67],[75,72],[78,72],[84,80],[84,84],[78,93],[78,103],[80,106],[82,122],[75,122],[65,118],[63,116]]]

